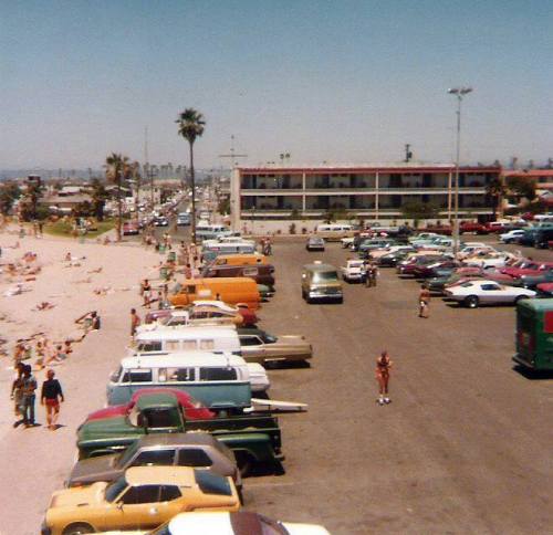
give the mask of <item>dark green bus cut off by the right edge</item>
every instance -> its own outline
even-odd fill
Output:
[[[534,370],[553,370],[553,300],[517,304],[517,354],[513,360]]]

